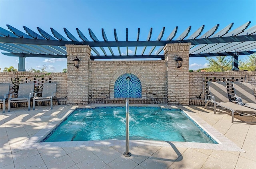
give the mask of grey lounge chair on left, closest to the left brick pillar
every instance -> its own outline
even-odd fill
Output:
[[[35,93],[33,98],[33,110],[35,110],[36,101],[50,101],[52,109],[52,98],[56,97],[56,88],[57,83],[44,83],[43,91]],[[42,97],[38,96],[39,93],[42,93]]]

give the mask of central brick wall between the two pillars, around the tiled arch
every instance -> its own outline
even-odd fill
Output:
[[[114,98],[114,83],[124,73],[136,75],[142,84],[137,103],[166,104],[167,62],[160,61],[89,61],[89,103],[124,103]]]

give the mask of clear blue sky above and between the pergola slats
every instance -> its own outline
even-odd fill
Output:
[[[77,39],[76,28],[89,39],[88,28],[104,41],[101,29],[104,28],[109,41],[115,41],[114,28],[117,31],[118,40],[126,40],[126,28],[128,28],[128,40],[137,39],[140,28],[140,40],[145,41],[150,28],[153,28],[151,40],[156,40],[160,31],[165,27],[162,40],[166,40],[172,30],[178,26],[176,37],[191,26],[188,37],[200,26],[206,31],[220,24],[218,31],[228,24],[234,23],[233,28],[251,21],[248,28],[256,25],[256,0],[0,0],[0,27],[6,29],[6,24],[26,33],[22,26],[32,29],[40,34],[36,27],[40,27],[50,35],[50,28],[54,28],[64,37],[63,28],[68,29]],[[247,28],[247,29],[248,29]],[[201,35],[202,35],[201,34]],[[53,36],[53,35],[52,35]],[[68,38],[66,38],[68,39]],[[82,40],[81,40],[82,41]],[[143,47],[138,47],[137,55],[141,54]],[[112,47],[118,54],[117,47]],[[151,47],[147,47],[148,54]],[[154,53],[158,48],[154,49]],[[103,52],[97,49],[101,55]],[[111,55],[105,47],[108,55]],[[129,47],[128,54],[134,55],[135,47]],[[0,54],[0,68],[14,66],[18,69],[18,57],[8,57]],[[122,55],[126,55],[126,47],[121,47]],[[95,55],[95,53],[92,53]],[[239,56],[243,60],[246,56]],[[189,59],[189,69],[197,70],[207,64],[205,57]],[[48,72],[62,72],[67,67],[66,59],[58,58],[32,58],[26,57],[26,71],[29,69],[41,69],[46,66]]]

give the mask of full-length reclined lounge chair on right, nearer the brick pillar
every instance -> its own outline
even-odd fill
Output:
[[[243,116],[253,116],[256,114],[256,110],[252,108],[248,108],[239,104],[239,102],[229,102],[227,88],[225,82],[208,82],[209,92],[210,95],[205,96],[206,104],[204,108],[208,105],[209,102],[214,104],[214,114],[216,114],[216,106],[221,106],[225,109],[228,109],[232,112],[232,120],[231,122],[241,122],[241,121],[234,121],[234,112],[243,115]],[[208,100],[210,97],[210,100]],[[248,113],[254,114],[248,114]],[[253,123],[254,122],[245,122],[245,123]]]

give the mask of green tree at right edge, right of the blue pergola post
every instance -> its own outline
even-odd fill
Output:
[[[256,53],[244,58],[244,61],[239,61],[239,69],[247,71],[256,71]]]

